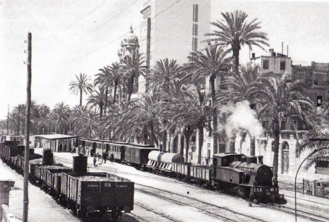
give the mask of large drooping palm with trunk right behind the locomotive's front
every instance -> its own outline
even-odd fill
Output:
[[[274,134],[273,181],[278,176],[279,140],[282,121],[289,121],[294,127],[294,121],[313,112],[314,105],[300,92],[300,83],[292,82],[286,75],[280,79],[262,76],[250,89],[249,94],[263,104],[261,118],[269,121],[269,127]]]

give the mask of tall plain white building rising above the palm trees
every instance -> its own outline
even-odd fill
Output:
[[[193,50],[205,48],[204,36],[210,32],[210,0],[148,0],[141,10],[143,20],[139,52],[146,65],[168,58],[179,64],[188,62]],[[145,93],[144,77],[138,79],[138,93]]]

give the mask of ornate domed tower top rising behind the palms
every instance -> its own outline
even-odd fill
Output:
[[[134,52],[138,53],[138,49],[138,37],[133,33],[131,26],[130,32],[121,40],[121,49],[118,51],[120,63],[122,63],[122,60],[127,56],[131,56]]]

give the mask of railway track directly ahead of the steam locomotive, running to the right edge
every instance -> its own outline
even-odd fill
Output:
[[[270,209],[274,209],[274,210],[278,210],[280,212],[284,212],[284,213],[287,213],[287,214],[295,215],[295,208],[292,208],[292,207],[282,206],[282,205],[278,205],[278,204],[272,204],[272,205],[260,204],[260,206],[270,208]],[[319,214],[314,214],[314,213],[311,213],[311,212],[298,210],[298,209],[297,209],[297,217],[301,217],[301,218],[307,219],[309,221],[329,222],[328,217],[321,216]]]

